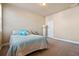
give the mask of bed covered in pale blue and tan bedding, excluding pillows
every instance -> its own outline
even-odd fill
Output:
[[[40,49],[47,49],[46,37],[34,34],[10,36],[7,56],[25,56]]]

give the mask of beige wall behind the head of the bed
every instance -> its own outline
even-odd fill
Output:
[[[3,4],[3,42],[10,38],[12,30],[27,28],[42,34],[43,16],[10,4]]]

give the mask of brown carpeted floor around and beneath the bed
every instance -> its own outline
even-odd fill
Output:
[[[0,55],[5,56],[8,46],[4,46]],[[48,49],[35,51],[27,56],[79,56],[79,45],[55,39],[48,39]]]

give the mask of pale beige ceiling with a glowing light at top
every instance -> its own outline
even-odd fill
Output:
[[[57,13],[59,11],[77,6],[78,4],[74,3],[46,3],[46,6],[43,6],[41,3],[15,3],[13,4],[17,7],[29,10],[31,12],[40,14],[42,16],[47,16],[50,14]]]

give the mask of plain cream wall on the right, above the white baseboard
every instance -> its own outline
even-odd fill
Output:
[[[54,22],[54,37],[79,41],[79,6],[50,16]]]

